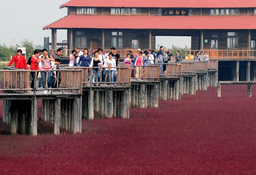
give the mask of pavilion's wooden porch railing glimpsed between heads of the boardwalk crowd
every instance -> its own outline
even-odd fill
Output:
[[[83,52],[84,49],[80,49],[80,51]],[[61,57],[68,57],[70,56],[70,54],[72,54],[71,49],[63,49],[63,53],[61,55]],[[132,54],[135,55],[137,53],[137,50],[130,50],[132,51]],[[52,49],[50,50],[50,55],[52,55],[53,53],[57,52],[57,49]],[[104,49],[103,53],[110,53],[110,49]],[[89,50],[89,54],[91,53],[91,50]],[[129,53],[129,50],[116,50],[116,53],[118,53],[120,55],[120,57],[126,57],[126,55]]]

